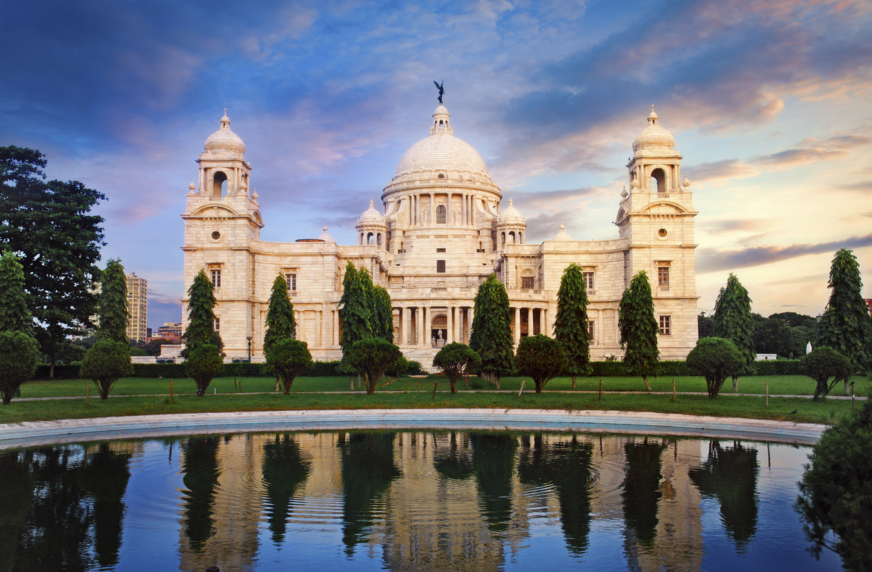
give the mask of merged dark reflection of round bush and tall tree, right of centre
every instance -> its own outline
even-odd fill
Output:
[[[526,441],[528,442],[528,441]],[[522,483],[546,485],[557,489],[560,521],[567,547],[576,555],[588,549],[590,532],[590,460],[593,444],[572,440],[543,444],[542,435],[535,435],[533,450],[521,453],[518,476]]]

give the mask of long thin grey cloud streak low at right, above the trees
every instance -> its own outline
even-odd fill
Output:
[[[836,242],[792,244],[790,246],[758,246],[741,250],[697,250],[697,272],[705,274],[780,262],[797,256],[835,252],[838,249],[861,249],[872,246],[872,234],[852,236]]]

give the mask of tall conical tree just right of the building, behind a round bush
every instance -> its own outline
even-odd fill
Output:
[[[732,376],[732,391],[739,391],[739,375],[749,374],[753,371],[754,359],[757,351],[754,351],[753,340],[754,323],[751,316],[751,297],[748,291],[739,282],[739,278],[732,272],[726,279],[726,286],[720,289],[718,300],[714,304],[714,331],[712,337],[723,337],[730,340],[739,349],[739,353],[745,358],[745,367],[738,375]]]

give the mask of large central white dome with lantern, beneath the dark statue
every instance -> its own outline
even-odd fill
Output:
[[[460,171],[487,176],[481,155],[466,141],[454,137],[444,106],[433,113],[430,136],[412,145],[399,160],[394,177],[415,171]]]

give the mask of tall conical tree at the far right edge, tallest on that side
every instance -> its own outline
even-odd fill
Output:
[[[867,344],[872,337],[869,309],[863,301],[860,265],[848,249],[835,253],[829,269],[829,302],[821,318],[818,345],[826,345],[848,358],[855,374],[866,371]],[[845,378],[848,392],[848,378]]]

